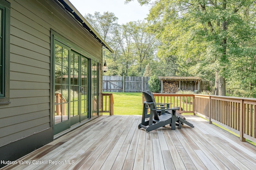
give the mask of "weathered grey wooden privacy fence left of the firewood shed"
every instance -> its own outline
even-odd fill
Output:
[[[103,76],[103,92],[142,92],[148,90],[150,77]]]

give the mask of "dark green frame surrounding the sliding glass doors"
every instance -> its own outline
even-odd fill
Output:
[[[99,78],[98,78],[98,76],[99,76],[99,69],[98,69],[98,66],[99,66],[99,59],[96,59],[95,57],[93,57],[92,55],[88,55],[88,53],[86,52],[83,52],[79,47],[76,47],[76,45],[74,45],[74,44],[72,44],[70,41],[68,41],[68,40],[66,40],[64,37],[62,37],[61,35],[59,35],[58,33],[56,33],[55,31],[53,31],[53,30],[51,30],[51,33],[52,33],[52,47],[51,47],[51,50],[52,50],[52,60],[51,60],[51,68],[52,68],[52,71],[51,71],[51,74],[52,74],[52,90],[51,90],[51,94],[52,94],[52,98],[51,98],[51,115],[52,115],[52,121],[51,121],[51,124],[52,124],[52,126],[53,126],[53,130],[54,130],[54,135],[56,135],[56,134],[58,134],[58,133],[60,133],[60,132],[62,132],[62,131],[65,131],[65,130],[67,130],[67,129],[70,129],[70,127],[72,126],[72,125],[74,125],[74,124],[76,124],[76,123],[79,123],[79,122],[82,122],[82,121],[84,121],[84,120],[86,120],[86,119],[91,119],[91,118],[93,118],[93,117],[95,117],[95,116],[98,116],[98,113],[99,113],[99,111],[98,111],[98,100],[99,100],[99,98],[98,98],[98,93],[99,93]],[[56,36],[57,35],[57,36]],[[60,45],[60,46],[62,46],[62,47],[65,47],[66,49],[68,49],[69,50],[69,54],[68,54],[68,84],[66,84],[66,85],[68,85],[68,94],[70,95],[70,90],[71,90],[71,68],[70,68],[70,54],[71,54],[71,52],[74,52],[74,53],[76,53],[76,54],[79,54],[80,55],[80,57],[79,57],[79,65],[81,65],[81,59],[82,58],[84,58],[84,59],[86,59],[86,60],[88,60],[87,61],[87,63],[88,63],[88,73],[87,73],[87,78],[88,78],[88,86],[87,86],[87,88],[88,88],[88,95],[87,95],[87,97],[88,97],[88,99],[87,99],[87,101],[88,102],[86,102],[86,112],[87,112],[87,114],[86,114],[86,112],[84,112],[84,115],[81,113],[81,99],[82,98],[80,98],[78,101],[80,102],[79,103],[79,107],[78,107],[78,109],[79,109],[79,118],[75,118],[75,119],[79,119],[79,121],[78,120],[72,120],[71,119],[71,117],[70,117],[70,107],[71,107],[71,101],[70,101],[70,97],[68,97],[68,101],[67,101],[67,106],[66,107],[68,107],[68,109],[67,109],[67,114],[68,114],[68,120],[67,121],[62,121],[61,123],[58,123],[58,124],[55,124],[55,44],[58,44],[58,45]],[[85,57],[85,56],[88,56],[88,57],[90,57],[90,58],[88,58],[88,57]],[[93,100],[92,100],[92,98],[93,98],[93,96],[92,96],[92,61],[94,62],[94,63],[96,63],[96,68],[97,68],[97,74],[95,75],[96,76],[96,84],[97,84],[97,92],[96,92],[96,98],[97,98],[97,100],[96,100],[96,111],[94,111],[94,113],[93,113],[93,111],[92,111],[92,109],[93,109],[93,106],[92,106],[92,104],[94,104],[93,102]],[[79,68],[79,70],[80,70],[80,75],[82,75],[81,74],[81,68]],[[81,81],[81,80],[79,80],[79,81]],[[85,80],[84,80],[85,81]],[[81,85],[81,82],[79,82],[79,87],[80,87],[80,85]]]

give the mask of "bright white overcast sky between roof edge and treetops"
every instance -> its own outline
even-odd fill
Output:
[[[119,24],[143,20],[149,13],[149,6],[140,6],[137,0],[124,4],[125,0],[69,0],[84,16],[94,12],[113,12]]]

